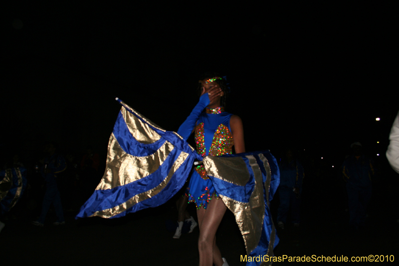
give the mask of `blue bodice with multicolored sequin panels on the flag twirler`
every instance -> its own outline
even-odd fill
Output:
[[[234,142],[230,130],[230,117],[230,113],[217,108],[201,114],[195,131],[195,140],[197,152],[202,157],[232,153]],[[196,170],[203,179],[208,178],[203,166],[198,166]]]

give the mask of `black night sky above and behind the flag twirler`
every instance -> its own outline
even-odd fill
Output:
[[[51,139],[106,152],[115,97],[176,131],[206,70],[227,75],[249,151],[292,142],[341,156],[359,140],[385,153],[399,109],[397,16],[382,3],[30,1],[0,12],[1,145],[22,151]]]

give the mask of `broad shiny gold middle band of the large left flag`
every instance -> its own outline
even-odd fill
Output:
[[[154,173],[166,160],[174,146],[165,141],[157,152],[149,156],[132,156],[126,153],[112,133],[108,143],[107,168],[96,190],[127,185]]]

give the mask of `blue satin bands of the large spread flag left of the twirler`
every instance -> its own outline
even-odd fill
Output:
[[[125,105],[122,102],[121,104]],[[126,108],[126,110],[131,112],[129,108]],[[131,113],[138,117],[144,123],[148,124],[142,117],[140,117],[136,113]],[[168,176],[173,164],[175,163],[176,159],[179,157],[182,151],[188,153],[189,156],[180,166],[180,168],[174,173],[170,182],[162,191],[160,191],[154,197],[141,201],[133,205],[128,210],[111,218],[122,217],[125,216],[127,213],[133,213],[145,208],[157,207],[159,205],[162,205],[170,198],[172,198],[183,187],[193,167],[194,160],[201,160],[202,157],[198,155],[196,151],[193,151],[190,148],[189,144],[185,140],[182,140],[176,133],[171,131],[162,131],[153,127],[151,124],[148,125],[152,130],[161,135],[161,139],[152,144],[143,144],[134,139],[132,134],[129,132],[128,126],[123,119],[121,113],[119,113],[118,115],[113,134],[118,140],[121,148],[126,153],[133,156],[151,155],[155,153],[165,141],[169,141],[174,146],[174,149],[169,153],[164,163],[154,173],[140,180],[113,189],[94,191],[93,195],[81,207],[80,212],[76,216],[76,219],[89,217],[97,211],[113,208],[115,206],[123,204],[124,202],[128,201],[129,199],[140,193],[146,192],[159,186],[162,181]]]

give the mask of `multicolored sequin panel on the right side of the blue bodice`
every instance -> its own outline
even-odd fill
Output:
[[[212,144],[210,145],[209,155],[220,156],[231,154],[234,145],[233,135],[228,127],[220,124],[213,135]]]

